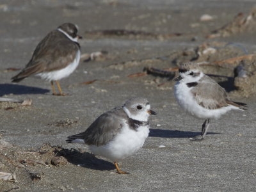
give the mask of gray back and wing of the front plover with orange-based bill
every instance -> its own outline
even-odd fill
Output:
[[[124,120],[127,119],[127,115],[122,108],[112,109],[100,115],[86,131],[68,136],[66,141],[72,143],[72,141],[78,139],[83,140],[88,145],[105,145],[121,131]]]

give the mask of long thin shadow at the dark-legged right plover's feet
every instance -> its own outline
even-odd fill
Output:
[[[218,132],[207,132],[207,134],[220,134]],[[173,131],[168,129],[150,129],[150,137],[156,138],[193,138],[195,136],[200,136],[201,132],[198,131]]]

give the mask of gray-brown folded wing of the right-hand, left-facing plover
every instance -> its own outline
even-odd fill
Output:
[[[218,83],[198,82],[193,84],[190,91],[196,102],[203,108],[218,109],[228,106],[227,93]]]

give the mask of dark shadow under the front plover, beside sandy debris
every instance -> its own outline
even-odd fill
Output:
[[[92,170],[114,170],[115,165],[109,161],[96,158],[93,154],[89,152],[79,152],[74,148],[67,149],[62,148],[58,150],[59,156],[63,156],[67,159],[69,163],[75,164],[77,166],[82,166]]]

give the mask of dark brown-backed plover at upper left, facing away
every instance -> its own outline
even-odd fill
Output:
[[[77,26],[65,23],[51,31],[36,46],[31,60],[25,68],[12,77],[12,82],[19,82],[28,76],[38,76],[51,81],[53,95],[65,95],[58,80],[69,76],[76,69],[80,60],[80,45],[77,40]],[[55,92],[53,82],[60,93]]]

